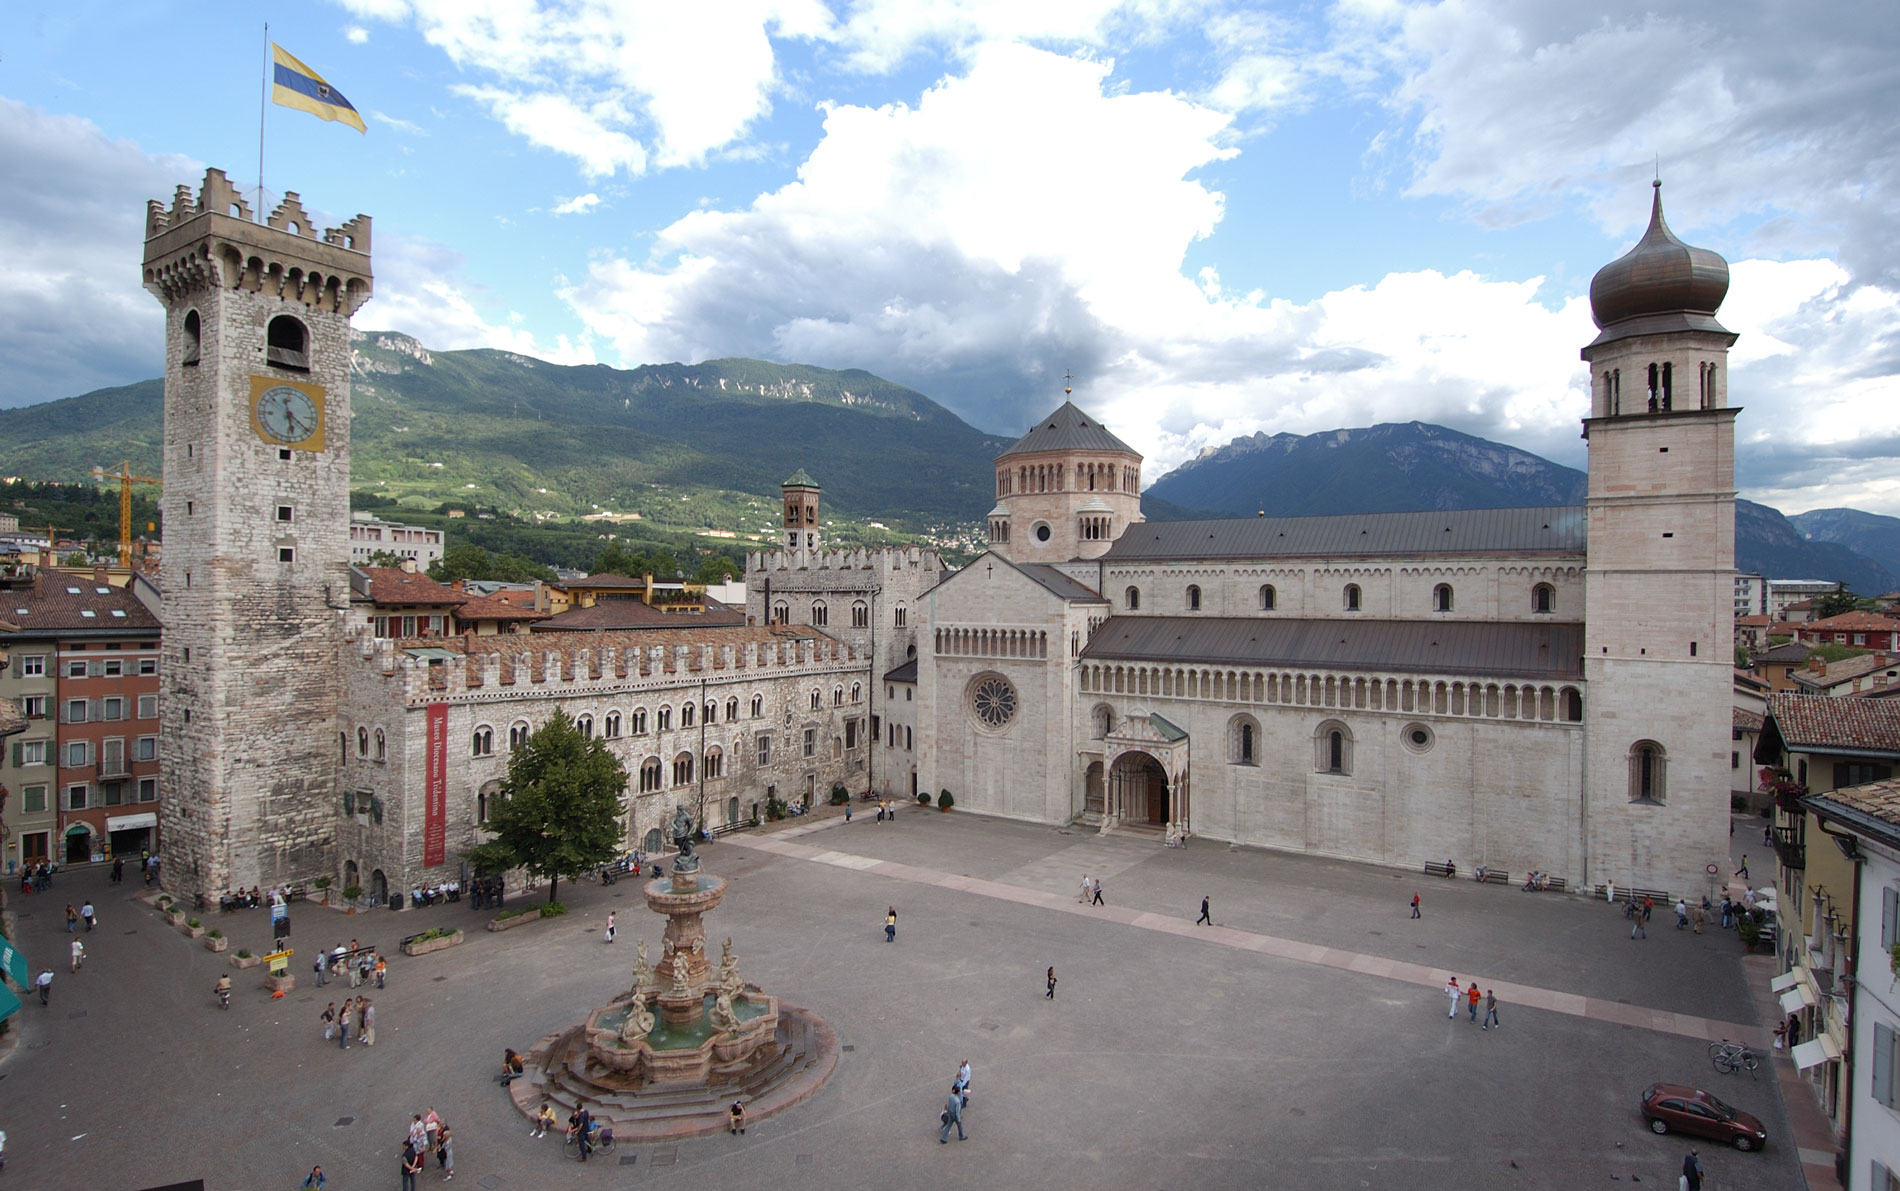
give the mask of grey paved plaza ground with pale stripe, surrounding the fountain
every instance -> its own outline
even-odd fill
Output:
[[[813,1098],[743,1138],[625,1147],[583,1168],[557,1136],[530,1138],[494,1083],[504,1047],[627,988],[636,940],[657,957],[661,919],[633,881],[564,883],[568,916],[507,933],[475,929],[488,916],[467,902],[357,916],[300,902],[298,988],[272,1001],[256,969],[232,971],[133,900],[133,879],[97,870],[48,895],[10,891],[15,944],[57,976],[0,1062],[4,1178],[264,1189],[321,1163],[331,1187],[395,1187],[403,1128],[433,1106],[454,1126],[456,1183],[488,1191],[1674,1187],[1691,1144],[1716,1187],[1801,1185],[1773,1068],[1708,1062],[1710,1035],[1765,1037],[1733,933],[1676,931],[1659,910],[1649,938],[1630,940],[1621,912],[1577,897],[965,813],[787,826],[703,851],[732,881],[707,938],[730,935],[745,976],[825,1016],[844,1054]],[[1085,872],[1106,906],[1077,904]],[[1203,895],[1212,929],[1193,925]],[[63,908],[84,898],[101,925],[74,976]],[[234,950],[266,950],[262,910],[209,917]],[[431,925],[469,938],[397,954]],[[319,1014],[352,990],[314,988],[308,955],[352,936],[390,954],[390,986],[370,990],[376,1047],[344,1052]],[[211,993],[224,971],[228,1012]],[[1448,1020],[1446,974],[1495,988],[1501,1030]],[[969,1140],[939,1145],[961,1058]],[[1653,1136],[1636,1111],[1653,1081],[1756,1113],[1767,1151]],[[422,1182],[441,1182],[433,1161]]]

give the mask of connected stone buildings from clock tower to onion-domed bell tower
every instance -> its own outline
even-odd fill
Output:
[[[167,312],[165,883],[456,879],[507,752],[562,709],[633,777],[629,847],[657,847],[676,802],[741,826],[840,790],[950,792],[1157,843],[1710,891],[1727,283],[1657,190],[1590,285],[1583,507],[1148,522],[1142,458],[1064,401],[998,456],[990,545],[961,570],[826,549],[798,471],[745,615],[388,640],[350,619],[370,220],[319,234],[287,194],[258,222],[209,171],[146,209]]]

